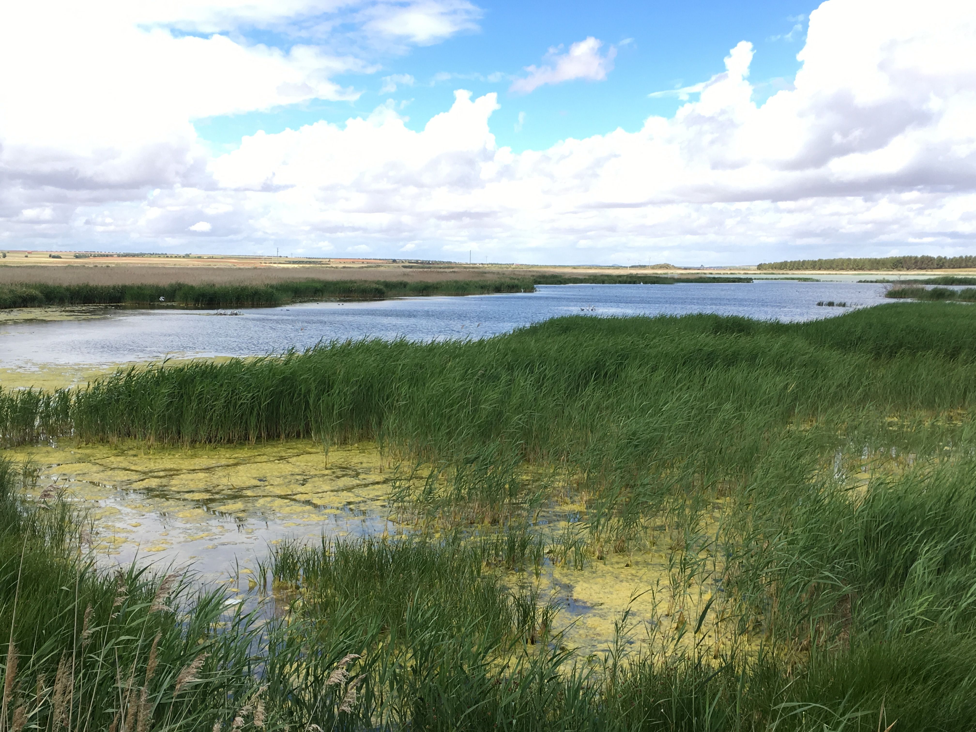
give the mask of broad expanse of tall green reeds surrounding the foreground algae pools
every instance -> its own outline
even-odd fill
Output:
[[[145,580],[142,648],[169,628],[161,638],[190,649],[168,678],[197,658],[190,628],[216,644],[194,688],[221,701],[187,699],[187,729],[959,730],[976,726],[974,361],[976,322],[947,303],[798,324],[569,317],[479,342],[337,343],[4,391],[0,430],[8,443],[376,439],[400,462],[391,502],[438,533],[275,549],[259,590],[287,622],[218,627],[210,600],[188,595],[181,614],[152,613]],[[558,495],[584,507],[571,535],[535,522]],[[12,620],[18,588],[67,588],[48,668],[83,642],[69,622],[83,604],[114,620],[117,589],[77,569],[67,529],[10,526],[0,623],[24,638],[23,684],[46,621]],[[61,564],[38,551],[18,582],[35,536],[68,549],[51,554]],[[622,616],[597,658],[564,648],[552,629],[566,611],[534,571],[655,547],[670,548],[672,585],[709,588],[703,602],[671,634]],[[102,594],[75,599],[65,577]],[[132,673],[105,674],[122,700],[147,672],[131,654],[118,668]],[[158,694],[152,729],[176,728],[179,695]],[[94,709],[107,721],[119,704]]]

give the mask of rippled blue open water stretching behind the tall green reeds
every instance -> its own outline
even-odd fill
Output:
[[[212,310],[87,308],[83,319],[0,324],[0,368],[102,365],[167,356],[248,356],[360,338],[485,338],[559,315],[713,312],[811,320],[884,303],[884,285],[756,280],[738,284],[559,285],[535,293]],[[888,301],[890,302],[890,301]]]

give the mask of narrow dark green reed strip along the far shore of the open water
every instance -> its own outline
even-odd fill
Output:
[[[496,279],[408,280],[305,279],[266,285],[0,285],[0,308],[43,305],[180,305],[183,307],[275,307],[316,300],[383,300],[428,295],[491,295],[534,292],[536,285],[675,284],[677,282],[751,282],[748,277],[664,277],[656,275],[557,274]]]

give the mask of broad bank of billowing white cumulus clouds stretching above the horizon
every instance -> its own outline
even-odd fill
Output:
[[[0,93],[0,238],[188,247],[198,232],[187,228],[209,223],[208,241],[228,250],[328,240],[336,251],[437,259],[471,246],[495,261],[535,262],[743,263],[788,256],[788,245],[804,254],[971,252],[974,40],[970,4],[829,0],[810,16],[793,85],[761,104],[743,42],[724,70],[683,90],[673,116],[521,153],[492,135],[492,94],[456,92],[420,131],[383,105],[345,124],[258,133],[214,155],[188,119],[194,105],[216,102],[180,102],[157,128],[148,93],[137,96],[148,100],[137,114],[112,101],[117,87],[97,94],[88,83],[97,102],[79,93],[71,117],[38,118],[32,131],[23,115],[33,112],[21,106],[33,97]],[[243,52],[284,69],[282,78],[314,66],[272,49]],[[558,62],[549,66],[554,73]],[[51,69],[52,83],[67,87],[56,71],[71,69]],[[0,77],[4,91],[10,76]],[[117,104],[126,124],[96,124],[91,108],[102,103]],[[142,119],[142,132],[130,129]]]

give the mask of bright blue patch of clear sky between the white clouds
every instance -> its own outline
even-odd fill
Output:
[[[334,77],[361,96],[351,102],[314,100],[267,111],[222,115],[194,121],[201,138],[215,150],[235,148],[245,135],[297,129],[318,120],[343,124],[392,101],[408,126],[423,129],[434,114],[447,109],[454,90],[475,96],[499,95],[501,109],[491,118],[500,145],[514,151],[545,149],[566,138],[585,138],[618,127],[640,128],[649,115],[671,116],[676,96],[649,98],[709,79],[723,69],[722,59],[741,40],[752,42],[750,79],[754,99],[762,102],[789,87],[799,68],[810,2],[780,0],[750,3],[708,2],[533,2],[481,3],[479,28],[445,41],[402,53],[374,51],[381,66],[373,73]],[[266,32],[245,32],[250,42],[289,48],[293,40]],[[617,49],[613,70],[603,81],[576,80],[547,85],[530,94],[509,93],[524,67],[540,64],[551,47],[568,47],[588,36]],[[565,50],[565,48],[563,49]],[[389,76],[409,75],[412,85],[397,84],[381,93]],[[518,128],[519,113],[523,122]]]

